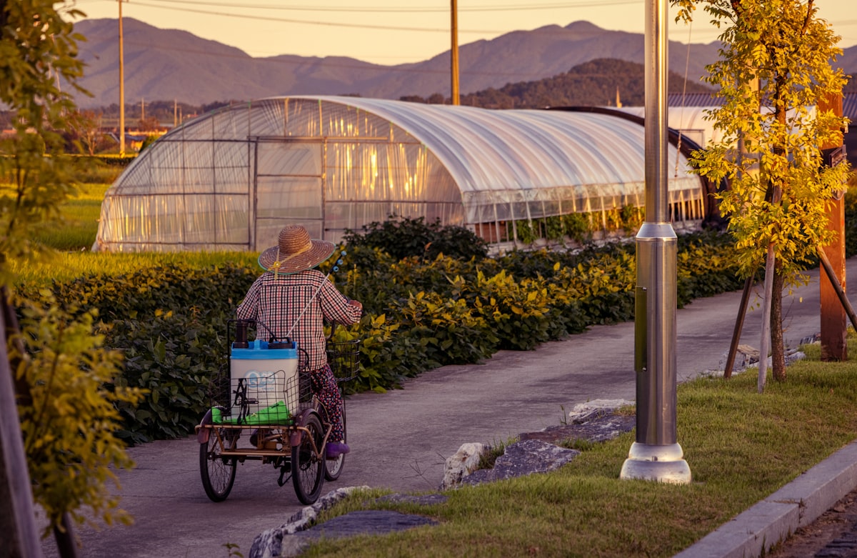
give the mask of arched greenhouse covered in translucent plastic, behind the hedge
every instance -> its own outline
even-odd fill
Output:
[[[675,147],[668,159],[670,215],[695,225],[703,185]],[[609,113],[279,97],[147,147],[108,189],[93,249],[260,250],[289,223],[338,242],[393,215],[513,246],[574,213],[608,225],[644,197],[644,129]]]

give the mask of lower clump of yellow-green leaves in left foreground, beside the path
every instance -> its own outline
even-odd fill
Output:
[[[118,484],[117,468],[134,466],[115,435],[122,422],[117,406],[135,405],[141,391],[116,386],[122,356],[105,351],[103,336],[93,336],[96,313],[70,320],[56,301],[48,302],[42,308],[21,301],[23,334],[9,345],[16,377],[28,389],[18,411],[33,500],[51,521],[45,536],[65,513],[83,523],[84,510],[107,525],[129,523],[106,484]]]

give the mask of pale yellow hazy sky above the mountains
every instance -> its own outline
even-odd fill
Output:
[[[547,25],[590,21],[611,30],[644,33],[646,0],[458,0],[458,45]],[[90,18],[119,15],[117,0],[67,0]],[[819,15],[857,45],[854,0],[817,0]],[[252,57],[296,54],[347,56],[393,65],[448,51],[451,0],[126,0],[123,17],[183,29],[236,46]],[[718,32],[698,10],[688,28],[674,24],[669,39],[708,43]],[[671,16],[670,21],[674,18]]]

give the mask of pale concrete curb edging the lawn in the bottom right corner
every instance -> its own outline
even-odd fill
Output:
[[[857,441],[717,527],[674,558],[752,558],[764,555],[798,527],[810,525],[855,488]]]

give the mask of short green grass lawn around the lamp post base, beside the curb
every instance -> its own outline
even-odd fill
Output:
[[[315,543],[309,556],[671,556],[857,438],[857,361],[822,363],[818,345],[757,393],[757,373],[678,387],[686,486],[623,481],[633,433],[596,444],[559,471],[464,487],[433,506],[352,495],[323,518],[360,509],[419,513],[439,525]],[[857,344],[849,340],[849,352]]]

